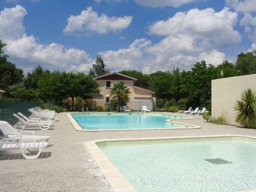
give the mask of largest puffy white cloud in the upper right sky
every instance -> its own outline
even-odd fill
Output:
[[[212,44],[217,47],[231,46],[241,41],[238,31],[233,27],[237,22],[237,13],[225,7],[220,12],[212,8],[192,9],[178,12],[166,21],[158,21],[149,27],[149,34],[189,36],[194,43]]]

